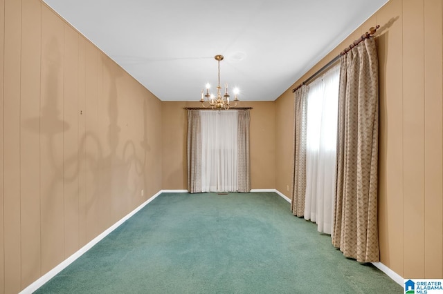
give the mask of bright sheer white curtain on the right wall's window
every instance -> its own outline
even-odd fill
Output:
[[[322,233],[332,233],[336,180],[338,85],[340,66],[334,66],[309,85],[305,219]]]

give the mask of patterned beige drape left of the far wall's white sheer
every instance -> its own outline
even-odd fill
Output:
[[[201,132],[199,110],[188,110],[188,191],[201,192]]]

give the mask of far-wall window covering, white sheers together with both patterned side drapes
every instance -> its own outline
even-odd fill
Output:
[[[249,110],[188,110],[188,190],[251,190]]]

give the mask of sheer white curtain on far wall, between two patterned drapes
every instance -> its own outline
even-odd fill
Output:
[[[201,110],[201,192],[236,191],[237,110]]]

